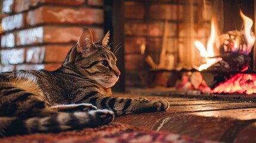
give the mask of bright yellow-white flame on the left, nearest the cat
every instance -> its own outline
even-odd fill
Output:
[[[216,31],[216,28],[214,25],[214,19],[212,19],[211,20],[211,35],[210,35],[209,41],[207,42],[207,51],[205,49],[205,46],[203,46],[203,44],[201,42],[195,41],[195,46],[200,51],[201,57],[206,58],[206,63],[199,66],[199,68],[198,68],[199,71],[205,70],[212,64],[215,64],[218,61],[222,60],[222,58],[212,58],[212,57],[214,57],[213,46],[214,46],[214,42],[216,41],[216,38],[217,38],[217,31]]]

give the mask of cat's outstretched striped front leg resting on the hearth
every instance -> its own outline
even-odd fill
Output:
[[[166,100],[151,101],[147,98],[120,98],[105,97],[100,94],[83,98],[98,108],[107,108],[115,112],[117,116],[132,113],[146,113],[153,111],[166,111],[169,108],[169,102]]]

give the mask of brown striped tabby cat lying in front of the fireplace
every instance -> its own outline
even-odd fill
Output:
[[[85,30],[55,71],[0,73],[0,136],[82,129],[115,116],[165,111],[165,100],[110,97],[120,71],[109,35],[94,43]]]

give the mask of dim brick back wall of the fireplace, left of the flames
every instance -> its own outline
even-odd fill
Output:
[[[203,0],[193,1],[192,7],[190,7],[190,2],[192,1],[125,1],[124,47],[125,84],[127,87],[158,86],[158,83],[162,84],[159,81],[162,79],[161,77],[158,79],[157,72],[155,72],[155,75],[151,75],[155,70],[152,71],[145,59],[147,55],[150,55],[153,61],[159,64],[165,20],[168,21],[165,55],[169,58],[168,66],[171,67],[166,69],[191,69],[193,66],[191,59],[195,58],[190,55],[195,52],[191,49],[193,47],[191,45],[191,34],[193,33],[194,38],[203,43],[208,39],[215,1],[205,1],[205,7]],[[191,21],[193,25],[191,25]],[[168,72],[167,74],[170,75]],[[168,76],[164,78],[164,86],[166,86]]]

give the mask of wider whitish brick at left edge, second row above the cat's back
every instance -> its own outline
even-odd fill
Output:
[[[1,50],[1,61],[2,64],[20,64],[25,61],[25,49],[2,49]]]

